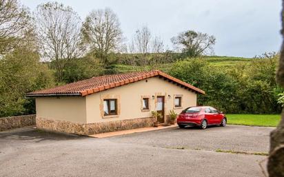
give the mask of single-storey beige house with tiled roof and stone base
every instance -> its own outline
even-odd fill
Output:
[[[35,97],[39,129],[88,135],[150,127],[153,110],[165,123],[170,110],[196,105],[197,94],[205,92],[155,70],[97,76],[26,96]]]

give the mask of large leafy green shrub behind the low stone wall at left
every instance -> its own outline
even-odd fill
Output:
[[[34,113],[26,92],[52,87],[52,70],[39,62],[37,52],[17,48],[0,59],[0,117]]]

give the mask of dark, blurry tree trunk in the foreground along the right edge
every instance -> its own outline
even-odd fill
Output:
[[[282,30],[281,34],[284,37],[284,0],[282,0]],[[281,56],[277,72],[277,81],[279,85],[284,87],[284,41],[281,47]],[[270,134],[270,156],[267,164],[267,170],[271,177],[284,176],[284,111],[280,124]]]

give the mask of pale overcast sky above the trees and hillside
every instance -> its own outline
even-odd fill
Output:
[[[59,0],[58,0],[59,1]],[[21,0],[34,10],[45,0]],[[170,38],[184,30],[206,32],[216,37],[219,56],[252,57],[278,51],[281,45],[281,0],[60,0],[78,12],[81,19],[94,9],[109,7],[118,15],[121,29],[131,39],[141,25]]]

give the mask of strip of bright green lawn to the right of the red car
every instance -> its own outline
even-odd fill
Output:
[[[226,114],[226,116],[228,124],[261,127],[276,127],[281,119],[278,114]]]

